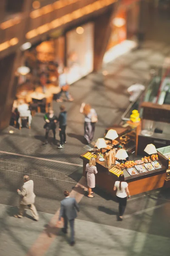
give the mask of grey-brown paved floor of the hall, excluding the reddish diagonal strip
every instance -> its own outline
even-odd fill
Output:
[[[83,116],[79,113],[81,103],[90,103],[98,113],[94,140],[103,136],[106,127],[120,122],[128,106],[127,87],[133,82],[146,83],[149,67],[163,64],[168,51],[170,47],[165,43],[147,41],[143,49],[127,53],[103,67],[108,76],[90,74],[71,86],[75,100],[65,102],[68,126],[67,144],[63,149],[57,149],[57,143],[52,139],[48,145],[42,145],[43,114],[33,117],[31,130],[22,128],[19,131],[8,127],[0,134],[0,256],[26,255],[59,209],[63,190],[73,189],[82,177],[79,155],[85,151],[85,145]],[[56,102],[54,111],[59,113]],[[9,134],[10,130],[14,134]],[[18,205],[16,190],[22,185],[26,173],[34,180],[36,207],[42,212],[38,223],[30,218],[18,220],[12,217]],[[94,199],[84,196],[80,201],[76,246],[70,250],[68,240],[59,235],[45,255],[170,255],[169,191],[153,191],[132,197],[122,222],[116,219],[117,203],[97,187],[94,192]]]

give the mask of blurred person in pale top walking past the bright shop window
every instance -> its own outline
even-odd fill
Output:
[[[58,93],[57,102],[63,102],[63,100],[61,99],[63,92],[65,93],[65,96],[68,101],[72,102],[74,100],[69,93],[70,86],[67,82],[67,73],[68,73],[68,69],[67,67],[65,67],[62,74],[59,75],[59,87],[61,88],[61,91]]]

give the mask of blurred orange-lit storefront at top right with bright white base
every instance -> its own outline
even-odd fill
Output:
[[[111,37],[104,56],[104,63],[113,61],[136,47],[138,23],[139,1],[122,0],[111,23]]]

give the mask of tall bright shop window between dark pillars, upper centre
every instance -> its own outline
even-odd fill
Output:
[[[72,84],[93,71],[94,24],[87,23],[66,33],[68,83]]]

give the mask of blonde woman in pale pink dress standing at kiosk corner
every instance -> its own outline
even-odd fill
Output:
[[[88,181],[88,197],[93,198],[94,196],[92,189],[95,188],[95,174],[97,174],[96,169],[96,160],[94,157],[91,157],[89,163],[86,165],[86,172],[87,172],[87,181]]]

